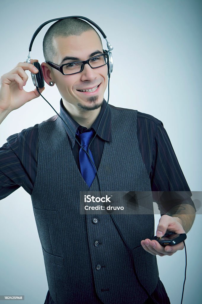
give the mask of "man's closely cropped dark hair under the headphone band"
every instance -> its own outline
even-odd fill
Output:
[[[52,61],[53,57],[56,56],[56,49],[53,46],[52,41],[53,38],[58,36],[80,36],[83,32],[89,30],[94,30],[96,32],[93,26],[91,26],[89,23],[82,19],[68,18],[53,23],[53,25],[47,30],[43,38],[43,55],[45,61]],[[100,36],[99,39],[102,44]]]

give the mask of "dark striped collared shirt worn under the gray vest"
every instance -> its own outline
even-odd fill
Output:
[[[106,101],[104,101],[99,116],[91,126],[97,132],[97,136],[90,146],[97,169],[105,141],[113,141],[111,134],[111,105],[107,109],[106,105]],[[76,136],[78,128],[80,132],[85,131],[86,128],[79,126],[69,116],[62,104],[62,99],[60,101],[60,115],[71,130],[64,125],[72,154],[79,168],[80,147],[76,143],[74,136]],[[50,120],[56,118],[57,115]],[[137,112],[137,138],[140,153],[150,177],[151,190],[190,192],[163,123],[149,114]],[[7,143],[0,148],[0,199],[5,198],[20,186],[30,195],[32,194],[37,172],[37,159],[38,124],[7,138]],[[166,291],[160,280],[152,296],[159,304],[169,303]],[[48,292],[45,303],[53,303],[50,299]],[[146,303],[150,303],[149,299]]]

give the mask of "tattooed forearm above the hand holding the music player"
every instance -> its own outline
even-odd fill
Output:
[[[183,226],[184,231],[187,233],[195,219],[195,209],[189,204],[180,204],[172,209],[169,210],[169,212],[166,213],[169,216],[177,217],[177,221]]]

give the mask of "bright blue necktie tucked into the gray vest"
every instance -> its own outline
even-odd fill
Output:
[[[94,131],[91,130],[91,131],[87,131],[87,132],[83,132],[83,133],[79,133],[77,131],[76,134],[79,136],[81,146],[88,152],[88,146],[89,146],[91,138],[94,135]],[[89,149],[89,155],[90,155],[90,158],[92,159],[93,163],[95,163],[90,149]],[[92,164],[91,160],[89,159],[88,155],[82,148],[79,151],[79,164],[80,164],[81,175],[84,178],[84,180],[86,181],[86,184],[90,188],[90,186],[95,178],[95,175],[96,175],[96,169],[95,169],[94,165]]]

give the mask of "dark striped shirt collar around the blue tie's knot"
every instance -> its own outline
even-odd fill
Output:
[[[106,107],[107,107],[107,109],[106,109]],[[105,111],[105,109],[106,109],[106,111]],[[69,127],[68,128],[66,125],[64,125],[65,130],[71,140],[72,147],[74,147],[76,131],[80,125],[79,125],[79,123],[76,122],[76,120],[74,120],[69,115],[69,112],[65,109],[65,107],[63,105],[62,98],[60,100],[60,116],[64,119],[64,121],[66,122],[66,124]],[[101,118],[102,118],[102,120],[101,120]],[[100,121],[101,121],[101,123],[100,123]],[[100,123],[100,126],[99,126],[99,123]],[[98,130],[98,126],[99,126],[99,130]],[[107,105],[106,100],[104,99],[101,111],[99,112],[99,115],[96,118],[96,120],[94,121],[91,128],[93,128],[93,130],[95,130],[95,132],[97,132],[97,130],[98,130],[97,135],[99,135],[100,138],[111,142],[112,141],[111,127],[112,127],[111,126],[111,110],[110,110],[109,105]]]

